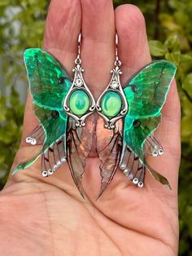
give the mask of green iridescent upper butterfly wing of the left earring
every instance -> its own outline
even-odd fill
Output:
[[[48,148],[63,136],[66,137],[68,115],[63,111],[63,100],[72,86],[72,78],[49,52],[38,48],[27,49],[24,51],[24,63],[33,97],[34,113],[40,122],[40,126],[33,130],[26,142],[33,145],[43,144],[43,147],[36,156],[16,166],[13,174],[33,165]],[[65,151],[66,143],[63,145],[63,152]]]

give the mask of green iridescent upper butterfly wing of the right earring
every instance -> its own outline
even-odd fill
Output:
[[[164,152],[153,132],[159,126],[161,109],[175,73],[176,67],[172,63],[165,60],[155,61],[142,68],[124,86],[129,111],[124,118],[124,149],[120,168],[123,169],[122,161],[126,162],[125,152],[129,148],[155,179],[168,185],[168,180],[147,164],[146,154],[157,156]]]

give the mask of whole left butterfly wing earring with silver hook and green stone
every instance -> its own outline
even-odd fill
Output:
[[[40,122],[28,135],[26,143],[42,145],[42,148],[35,156],[16,166],[13,174],[32,166],[41,157],[41,174],[47,177],[67,161],[72,179],[85,197],[81,179],[94,135],[94,118],[90,114],[95,102],[83,79],[80,48],[81,34],[73,81],[49,52],[37,48],[24,52],[34,113]]]

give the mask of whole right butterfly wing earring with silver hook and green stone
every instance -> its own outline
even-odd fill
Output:
[[[111,82],[96,104],[105,128],[112,129],[110,136],[106,137],[105,146],[102,147],[103,142],[98,144],[98,157],[102,161],[102,185],[98,198],[111,183],[118,167],[139,188],[143,187],[146,170],[170,188],[168,179],[149,166],[146,156],[157,157],[164,153],[154,131],[159,126],[161,109],[177,68],[166,60],[151,62],[122,88],[117,43],[116,35],[116,67],[111,71]]]

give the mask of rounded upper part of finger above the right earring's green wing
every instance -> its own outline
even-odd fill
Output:
[[[131,4],[116,8],[118,55],[122,62],[122,82],[151,61],[142,12]]]

